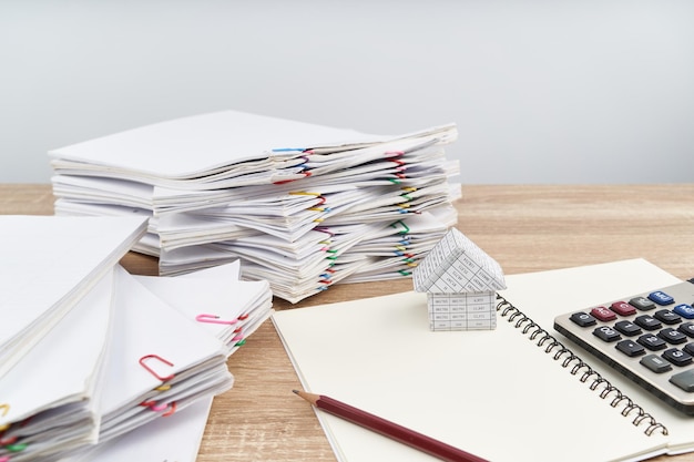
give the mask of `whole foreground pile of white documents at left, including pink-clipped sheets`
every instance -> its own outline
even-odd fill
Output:
[[[233,386],[226,361],[269,317],[269,285],[238,264],[130,275],[119,260],[145,232],[136,216],[0,216],[0,461],[95,461],[156,419],[206,418]]]

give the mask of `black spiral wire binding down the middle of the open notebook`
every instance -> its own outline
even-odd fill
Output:
[[[542,347],[545,353],[551,353],[555,361],[561,361],[560,365],[562,368],[567,369],[571,367],[569,372],[572,376],[579,377],[579,380],[583,383],[588,383],[589,379],[592,378],[592,382],[590,382],[589,388],[592,391],[600,389],[598,396],[603,400],[608,399],[608,397],[613,397],[610,402],[612,408],[616,408],[623,403],[624,409],[621,412],[622,415],[629,417],[635,412],[632,424],[635,427],[639,427],[642,423],[647,425],[644,430],[644,433],[647,435],[653,434],[656,430],[660,430],[663,435],[667,435],[667,428],[665,425],[657,422],[653,415],[645,412],[641,405],[636,404],[631,398],[622,393],[616,387],[610,383],[608,379],[591,368],[554,336],[544,330],[540,325],[525,316],[520,309],[516,308],[513,304],[498,294],[497,300],[499,301],[497,304],[497,311],[501,314],[501,317],[506,318],[508,322],[514,322],[514,327],[517,329],[522,329],[521,332],[527,336],[529,340],[537,340],[538,347]],[[581,374],[579,376],[579,373]]]

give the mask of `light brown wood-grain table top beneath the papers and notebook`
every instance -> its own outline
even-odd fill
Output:
[[[694,276],[694,184],[476,185],[456,203],[458,228],[507,275],[645,258],[678,278]],[[50,185],[0,185],[0,214],[51,215]],[[156,259],[129,254],[133,274]],[[276,310],[411,290],[411,279],[338,285]],[[335,461],[272,322],[231,356],[234,388],[214,400],[198,462]],[[694,461],[694,453],[654,461]]]

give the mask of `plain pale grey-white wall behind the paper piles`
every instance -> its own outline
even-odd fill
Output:
[[[0,0],[1,183],[223,109],[456,122],[467,184],[692,182],[694,1]]]

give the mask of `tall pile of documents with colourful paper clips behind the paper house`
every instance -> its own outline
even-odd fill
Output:
[[[51,151],[58,215],[136,215],[160,275],[237,259],[290,302],[409,277],[455,225],[455,125],[399,136],[222,111]]]

